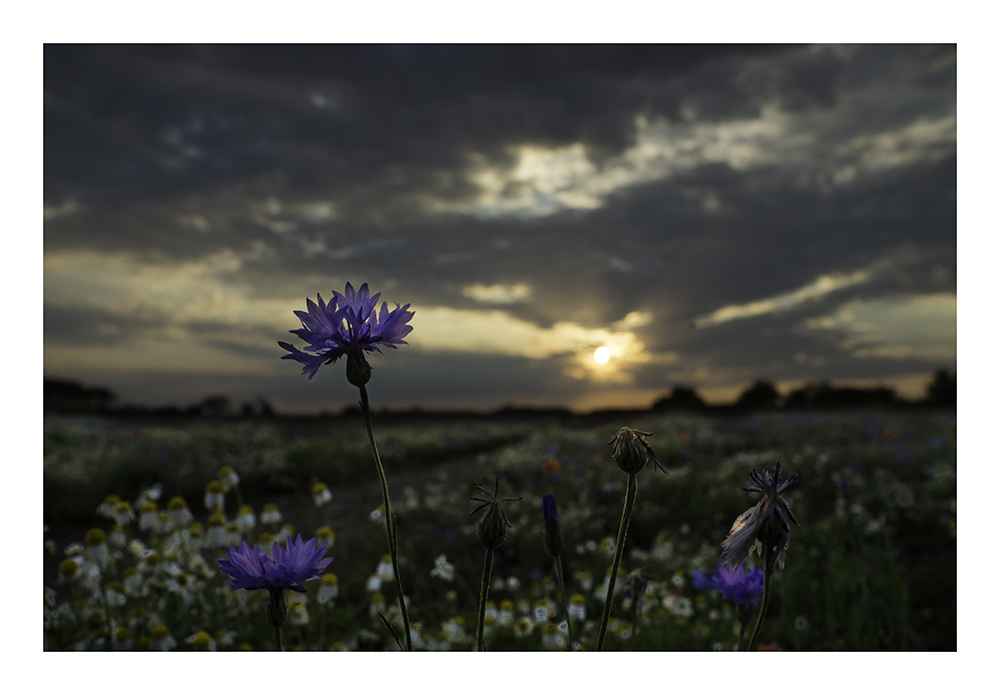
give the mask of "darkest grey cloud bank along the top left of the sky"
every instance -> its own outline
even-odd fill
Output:
[[[253,191],[259,177],[384,205],[400,186],[447,192],[470,148],[620,151],[636,113],[675,117],[685,94],[711,104],[705,117],[743,113],[740,60],[782,50],[48,46],[46,199],[135,204],[228,190],[234,177]],[[687,93],[676,80],[690,70]]]

